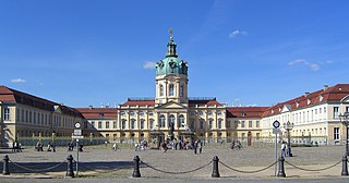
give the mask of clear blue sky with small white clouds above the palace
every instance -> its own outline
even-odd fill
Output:
[[[270,106],[348,83],[349,2],[3,0],[0,85],[72,107],[155,96],[173,28],[189,96]]]

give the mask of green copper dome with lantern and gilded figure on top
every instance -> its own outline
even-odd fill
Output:
[[[167,44],[166,58],[156,63],[156,75],[163,74],[184,74],[188,75],[188,63],[178,58],[170,29],[170,41]]]

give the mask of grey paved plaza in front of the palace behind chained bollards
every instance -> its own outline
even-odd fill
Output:
[[[325,147],[294,147],[294,157],[286,158],[285,163],[287,179],[339,179],[341,178],[341,157],[344,146]],[[76,160],[76,151],[68,151],[59,147],[57,152],[34,151],[26,148],[23,152],[12,154],[11,150],[2,150],[0,156],[9,155],[10,175],[4,178],[64,178],[67,171],[67,157],[73,155]],[[116,179],[129,180],[133,172],[134,156],[141,158],[141,175],[144,180],[168,179],[178,180],[205,180],[209,182],[214,156],[219,157],[219,173],[217,181],[224,180],[279,180],[275,178],[275,149],[274,147],[244,147],[240,150],[231,150],[227,144],[204,146],[203,152],[194,155],[193,150],[142,150],[135,151],[130,147],[123,147],[113,151],[111,146],[85,147],[80,152],[79,176],[80,179]],[[2,167],[2,164],[1,164]],[[268,168],[269,167],[269,168]],[[52,168],[52,169],[51,169]],[[301,169],[308,170],[301,170]],[[45,170],[46,169],[46,170]],[[75,169],[75,167],[74,167]],[[266,169],[260,171],[262,169]],[[325,170],[321,170],[325,169]],[[237,170],[237,171],[234,171]],[[309,171],[318,170],[318,171]],[[253,172],[254,171],[254,172]],[[130,179],[128,182],[132,182]],[[2,181],[0,181],[2,182]],[[154,181],[151,181],[154,182]],[[181,181],[182,182],[182,181]],[[185,182],[185,181],[184,181]],[[192,182],[192,181],[191,181]]]

